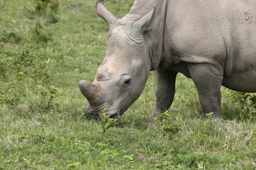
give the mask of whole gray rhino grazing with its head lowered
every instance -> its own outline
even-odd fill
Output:
[[[254,0],[135,0],[115,18],[97,2],[109,24],[106,56],[92,84],[81,80],[85,110],[99,116],[106,106],[119,120],[141,95],[150,71],[156,106],[149,119],[170,108],[177,73],[192,78],[203,113],[220,118],[220,86],[256,92]]]

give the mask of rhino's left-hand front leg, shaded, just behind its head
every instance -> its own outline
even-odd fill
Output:
[[[156,104],[155,110],[148,116],[150,120],[171,107],[175,93],[177,72],[169,72],[163,68],[157,68],[157,70],[153,71],[153,75],[155,78]]]

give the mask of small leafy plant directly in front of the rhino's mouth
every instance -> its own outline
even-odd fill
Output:
[[[107,113],[109,106],[104,109],[104,112],[100,115],[99,124],[103,129],[103,133],[110,127],[113,127],[116,124],[116,120],[110,118],[110,115]]]

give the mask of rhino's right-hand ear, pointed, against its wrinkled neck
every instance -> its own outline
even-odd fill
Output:
[[[151,29],[154,25],[155,21],[155,4],[153,5],[153,9],[147,13],[144,17],[142,17],[140,20],[135,22],[135,27],[141,28],[142,33],[145,31]]]

